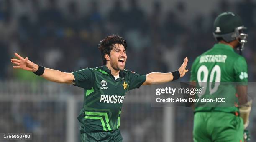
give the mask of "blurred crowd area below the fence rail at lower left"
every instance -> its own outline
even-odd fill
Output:
[[[33,142],[63,142],[67,127],[65,102],[1,102],[0,132],[32,133]],[[10,140],[1,140],[10,142]],[[12,140],[11,142],[26,142]]]

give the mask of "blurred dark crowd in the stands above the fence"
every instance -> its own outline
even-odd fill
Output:
[[[177,2],[175,8],[163,12],[160,1],[152,2],[151,12],[145,12],[138,0],[114,0],[110,10],[102,15],[97,0],[85,5],[81,12],[77,1],[69,1],[65,12],[59,0],[47,0],[46,7],[39,0],[0,1],[0,79],[13,75],[26,79],[26,72],[11,69],[14,52],[45,67],[72,72],[102,65],[97,46],[108,35],[120,35],[128,41],[126,67],[140,74],[176,70],[184,57],[189,67],[197,55],[213,46],[212,27],[221,12],[240,15],[248,27],[248,44],[243,56],[249,67],[249,80],[256,79],[255,10],[252,0],[237,3],[220,1],[210,15],[187,17],[187,5]],[[28,75],[29,76],[29,75]],[[183,78],[189,80],[189,75]]]

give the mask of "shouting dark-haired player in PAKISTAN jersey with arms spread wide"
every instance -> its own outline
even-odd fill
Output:
[[[78,116],[82,142],[122,142],[119,127],[125,94],[141,85],[176,80],[188,72],[186,57],[177,71],[138,75],[125,69],[126,49],[127,43],[123,37],[108,36],[100,41],[99,47],[104,65],[72,73],[42,67],[17,53],[15,56],[18,59],[11,59],[11,62],[15,64],[15,69],[34,72],[52,82],[84,88],[84,103]]]

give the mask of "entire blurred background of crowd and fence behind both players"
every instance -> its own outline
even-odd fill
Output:
[[[97,46],[104,37],[116,34],[128,42],[129,70],[171,72],[184,57],[189,58],[190,69],[195,57],[216,43],[213,21],[227,11],[240,15],[248,27],[243,56],[248,80],[253,82],[256,0],[0,0],[0,133],[31,132],[35,142],[79,141],[75,117],[82,106],[82,90],[13,70],[14,52],[45,67],[73,72],[101,66]],[[189,76],[181,81],[189,81]],[[124,142],[192,142],[192,109],[151,107],[147,91],[134,90],[124,101]],[[255,108],[250,121],[253,141]],[[72,141],[70,126],[76,130]]]

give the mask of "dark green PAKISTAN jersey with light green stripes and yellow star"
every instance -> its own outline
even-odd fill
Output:
[[[78,116],[80,132],[105,132],[120,126],[120,114],[127,91],[139,88],[146,75],[123,70],[119,78],[106,66],[86,68],[74,75],[74,85],[84,88],[84,103]]]

